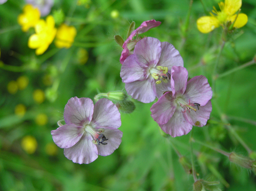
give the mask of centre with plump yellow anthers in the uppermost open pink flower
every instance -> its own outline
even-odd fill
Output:
[[[171,78],[171,74],[168,73],[168,68],[163,66],[156,66],[149,69],[151,76],[156,79],[156,84],[160,84],[162,81],[167,83]]]

